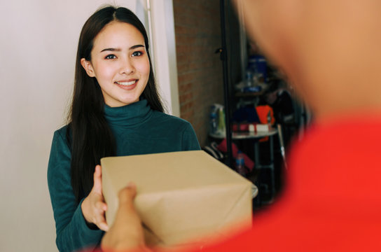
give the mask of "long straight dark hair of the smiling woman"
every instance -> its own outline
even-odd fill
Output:
[[[81,65],[82,58],[91,60],[95,36],[112,21],[133,25],[144,36],[151,71],[141,98],[147,100],[151,109],[164,111],[153,77],[148,36],[144,25],[127,8],[114,6],[100,8],[85,22],[79,37],[74,93],[68,114],[67,139],[71,147],[71,186],[78,202],[90,193],[94,183],[92,174],[95,165],[99,164],[101,158],[116,155],[116,142],[104,117],[102,90],[97,79],[88,76]]]

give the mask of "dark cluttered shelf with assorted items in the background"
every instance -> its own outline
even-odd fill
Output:
[[[233,83],[226,83],[229,111],[221,104],[213,104],[209,111],[209,146],[203,149],[253,181],[259,188],[256,199],[261,205],[272,202],[282,188],[286,148],[302,117],[282,72],[254,43],[248,48],[247,65],[242,64],[240,74],[233,74]],[[231,138],[226,139],[227,134]]]

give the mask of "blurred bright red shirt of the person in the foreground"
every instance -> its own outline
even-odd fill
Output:
[[[313,125],[282,197],[253,228],[202,251],[381,251],[381,116]]]

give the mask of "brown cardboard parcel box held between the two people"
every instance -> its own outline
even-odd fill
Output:
[[[232,224],[251,227],[252,183],[204,151],[102,158],[101,165],[108,225],[119,190],[134,181],[147,244],[202,244]]]

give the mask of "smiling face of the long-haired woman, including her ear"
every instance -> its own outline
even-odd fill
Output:
[[[110,22],[95,37],[91,60],[81,59],[88,76],[97,78],[104,102],[124,106],[139,101],[148,82],[144,37],[125,22]]]

